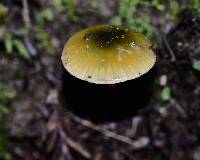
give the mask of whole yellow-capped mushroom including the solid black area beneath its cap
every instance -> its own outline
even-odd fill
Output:
[[[61,59],[61,100],[78,116],[121,120],[149,103],[156,56],[141,33],[126,26],[90,27],[68,40]]]

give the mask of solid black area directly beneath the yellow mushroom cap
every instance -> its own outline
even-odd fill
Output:
[[[156,69],[124,83],[96,85],[63,71],[63,108],[94,122],[120,121],[148,107]]]

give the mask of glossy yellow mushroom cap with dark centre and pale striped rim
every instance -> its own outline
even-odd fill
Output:
[[[148,72],[156,56],[141,33],[126,26],[98,25],[74,34],[62,63],[73,76],[96,84],[115,84]]]

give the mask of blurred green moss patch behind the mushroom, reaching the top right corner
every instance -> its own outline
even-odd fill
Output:
[[[151,17],[147,11],[152,9],[157,12],[163,12],[174,21],[185,8],[190,8],[196,14],[200,14],[200,1],[191,0],[178,3],[176,0],[171,0],[169,5],[167,5],[166,2],[161,0],[120,0],[118,15],[112,18],[111,23],[128,25],[156,42],[158,39],[155,37],[154,27],[150,20]]]

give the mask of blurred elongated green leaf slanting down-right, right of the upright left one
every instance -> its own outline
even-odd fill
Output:
[[[19,40],[14,40],[13,41],[13,45],[16,47],[16,49],[18,50],[19,54],[26,59],[30,58],[30,55],[28,53],[28,50],[26,49],[26,47],[24,46],[24,44],[19,41]]]

